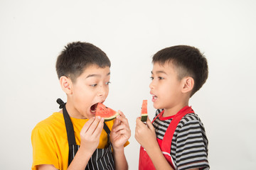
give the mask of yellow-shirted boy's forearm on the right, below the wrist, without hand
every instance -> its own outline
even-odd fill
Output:
[[[114,149],[114,148],[113,148]],[[124,147],[114,149],[114,166],[115,169],[128,169],[127,159],[124,155]]]

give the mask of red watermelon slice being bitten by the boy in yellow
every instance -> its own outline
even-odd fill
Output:
[[[105,122],[107,122],[116,118],[119,113],[111,108],[107,108],[107,106],[102,103],[97,103],[95,116],[97,115],[100,115],[100,117],[104,118]]]

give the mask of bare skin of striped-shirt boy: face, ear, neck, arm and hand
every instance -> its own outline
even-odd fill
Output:
[[[175,115],[181,108],[188,106],[193,79],[191,77],[178,79],[176,69],[171,62],[154,63],[151,79],[149,88],[154,108],[164,108],[163,117]],[[144,147],[156,169],[172,169],[156,141],[156,132],[149,118],[146,124],[137,118],[135,138]]]

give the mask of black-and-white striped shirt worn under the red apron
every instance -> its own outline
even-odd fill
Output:
[[[157,110],[156,115],[163,110]],[[156,117],[155,115],[155,117]],[[171,123],[167,120],[154,120],[156,137],[163,140],[164,134]],[[184,169],[210,169],[208,164],[208,140],[206,131],[198,115],[189,113],[178,123],[171,142],[171,157],[178,170]]]

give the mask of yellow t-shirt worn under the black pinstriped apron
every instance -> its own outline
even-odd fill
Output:
[[[88,119],[70,118],[75,132],[75,141],[80,145],[80,130]],[[112,130],[114,120],[106,122]],[[68,136],[65,129],[63,113],[55,112],[46,120],[41,121],[32,131],[31,142],[33,147],[32,169],[36,170],[36,165],[53,164],[56,169],[68,169]],[[128,145],[127,141],[124,146]],[[102,130],[100,143],[97,148],[107,146],[107,133]]]

